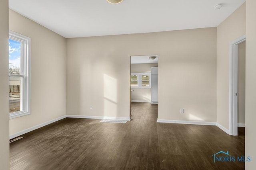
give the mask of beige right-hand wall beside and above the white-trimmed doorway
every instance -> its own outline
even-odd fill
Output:
[[[217,123],[229,129],[229,45],[245,34],[245,3],[217,27]]]

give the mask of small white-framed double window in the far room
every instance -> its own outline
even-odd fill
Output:
[[[150,88],[150,73],[132,73],[131,88]]]

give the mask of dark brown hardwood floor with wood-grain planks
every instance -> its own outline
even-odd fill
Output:
[[[10,169],[244,169],[244,162],[214,163],[212,157],[220,150],[244,156],[244,135],[156,120],[157,105],[149,103],[132,103],[127,123],[62,119],[10,143]]]

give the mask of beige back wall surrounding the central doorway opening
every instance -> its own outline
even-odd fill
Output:
[[[130,56],[145,54],[159,55],[158,119],[216,122],[216,27],[67,39],[67,114],[129,117]]]

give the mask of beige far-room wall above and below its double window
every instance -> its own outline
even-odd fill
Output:
[[[151,67],[157,67],[158,64],[131,64],[131,73],[151,73]],[[132,100],[151,101],[151,88],[132,88]]]

